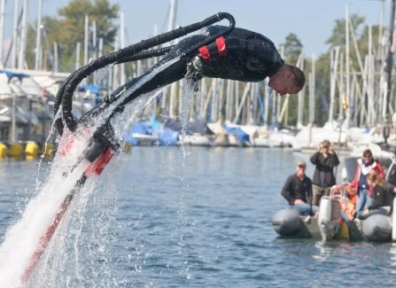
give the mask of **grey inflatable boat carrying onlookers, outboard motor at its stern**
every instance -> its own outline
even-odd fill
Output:
[[[331,189],[330,196],[322,197],[317,218],[300,216],[293,208],[278,211],[272,219],[276,233],[281,237],[313,238],[322,241],[396,241],[396,214],[374,214],[365,220],[350,220],[346,214],[349,198],[343,189],[344,186],[335,186]],[[393,200],[391,211],[394,209],[396,198]]]

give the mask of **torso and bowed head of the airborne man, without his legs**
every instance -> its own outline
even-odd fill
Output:
[[[224,28],[207,27],[206,34],[214,35]],[[269,77],[268,86],[281,95],[296,94],[305,84],[304,73],[296,66],[285,64],[271,40],[242,28],[235,28],[216,43],[201,47],[189,69],[187,76],[192,71],[201,77],[243,82],[260,82]]]

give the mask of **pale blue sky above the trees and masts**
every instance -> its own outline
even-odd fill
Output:
[[[6,1],[4,38],[12,37],[14,1]],[[19,0],[19,5],[23,0]],[[28,19],[37,19],[39,0],[28,0]],[[56,16],[58,9],[69,0],[43,0],[43,15]],[[119,4],[124,12],[127,30],[126,44],[137,43],[159,32],[167,31],[169,0],[110,0]],[[236,26],[268,36],[276,46],[283,43],[290,33],[298,35],[307,57],[317,58],[327,51],[325,44],[330,37],[335,19],[345,19],[349,13],[366,18],[367,24],[380,23],[381,7],[383,25],[389,27],[390,0],[177,0],[176,25],[187,26],[206,19],[217,12],[229,12],[236,19]],[[120,24],[120,21],[115,21]],[[224,20],[219,24],[229,25]]]

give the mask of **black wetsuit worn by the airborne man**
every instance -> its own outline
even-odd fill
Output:
[[[134,98],[179,81],[184,77],[191,77],[197,81],[202,77],[212,77],[243,82],[260,82],[268,76],[276,74],[279,68],[283,66],[284,61],[276,50],[275,44],[266,36],[242,28],[235,28],[229,35],[224,36],[227,50],[225,56],[219,55],[216,43],[209,44],[207,49],[211,51],[210,58],[205,60],[199,53],[191,57],[180,58],[171,66],[151,75],[152,78],[147,82],[143,82],[138,89],[131,93],[127,91],[144,76],[151,74],[154,69],[163,66],[169,59],[181,55],[184,51],[188,51],[195,44],[206,39],[208,35],[215,35],[225,28],[211,26],[206,28],[206,35],[192,35],[184,38],[157,65],[151,67],[147,73],[120,86],[111,96],[105,97],[102,105],[92,109],[82,119],[89,119],[96,113],[100,113],[103,107],[113,103],[123,93],[128,93],[129,95],[119,105],[118,111],[122,110],[123,106]]]

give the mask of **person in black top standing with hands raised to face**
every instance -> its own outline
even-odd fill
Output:
[[[312,204],[319,206],[322,196],[329,196],[331,187],[336,184],[333,170],[334,167],[338,166],[339,160],[329,140],[322,141],[317,152],[314,152],[310,160],[315,166],[312,179]]]

